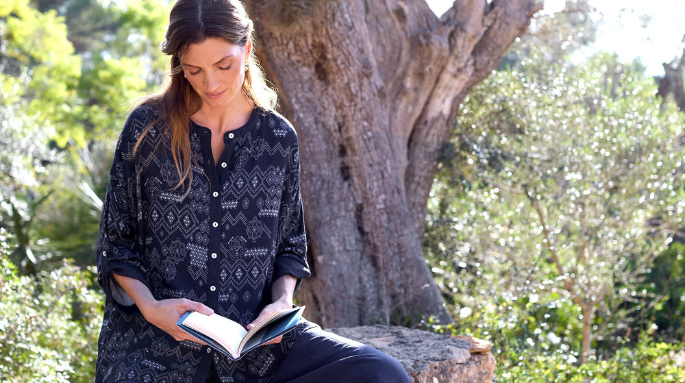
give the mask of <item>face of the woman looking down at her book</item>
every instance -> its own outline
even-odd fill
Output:
[[[223,108],[238,97],[244,97],[245,61],[251,49],[249,40],[241,47],[217,37],[188,47],[188,52],[181,58],[181,66],[203,106]]]

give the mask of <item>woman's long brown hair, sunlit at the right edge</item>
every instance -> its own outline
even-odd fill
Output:
[[[247,58],[242,91],[256,108],[269,110],[276,105],[276,92],[266,85],[262,67],[255,55],[254,27],[245,5],[238,0],[177,0],[171,8],[169,29],[162,42],[162,52],[171,56],[169,78],[165,80],[160,93],[140,103],[157,106],[160,114],[147,126],[134,147],[136,153],[150,129],[164,121],[171,136],[171,153],[179,175],[176,188],[186,180],[192,182],[190,165],[194,159],[190,151],[188,123],[190,115],[201,107],[199,95],[184,77],[181,58],[191,44],[199,44],[210,37],[223,38],[241,47],[245,47],[247,40],[252,41],[253,49]]]

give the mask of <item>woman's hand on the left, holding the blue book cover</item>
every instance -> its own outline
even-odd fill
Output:
[[[191,301],[189,299],[162,299],[161,301],[149,301],[145,305],[138,306],[142,316],[150,323],[160,328],[160,330],[173,336],[177,341],[193,341],[206,345],[203,341],[181,330],[176,323],[181,319],[183,314],[188,311],[197,311],[201,314],[211,315],[214,310],[207,306]]]

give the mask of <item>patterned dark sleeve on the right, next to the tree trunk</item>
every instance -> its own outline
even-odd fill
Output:
[[[275,281],[286,274],[292,275],[297,278],[297,289],[301,280],[309,277],[311,272],[307,262],[307,237],[300,197],[297,140],[291,149],[284,174],[284,188],[279,212],[279,241],[273,267],[273,280]]]

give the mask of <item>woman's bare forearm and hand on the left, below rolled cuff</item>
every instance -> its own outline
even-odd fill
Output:
[[[142,316],[160,330],[173,336],[177,341],[193,341],[205,344],[184,330],[181,330],[176,322],[188,311],[198,311],[210,315],[214,312],[207,306],[189,299],[162,299],[158,301],[153,297],[150,289],[136,278],[125,277],[112,273],[116,283],[133,299]],[[292,301],[292,295],[291,295]]]

